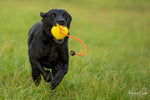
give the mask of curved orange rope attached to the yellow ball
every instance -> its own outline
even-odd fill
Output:
[[[80,42],[83,44],[83,46],[84,46],[84,52],[83,52],[82,54],[75,53],[74,51],[71,51],[71,52],[70,52],[71,55],[79,55],[79,56],[85,55],[85,53],[86,53],[86,45],[85,45],[85,43],[84,43],[82,40],[80,40],[79,38],[73,37],[73,36],[71,36],[71,35],[64,34],[64,33],[61,31],[61,28],[59,28],[59,30],[60,30],[60,33],[61,33],[61,34],[80,41]]]

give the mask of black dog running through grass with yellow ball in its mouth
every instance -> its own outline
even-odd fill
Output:
[[[69,67],[68,37],[57,40],[51,34],[56,23],[70,28],[71,15],[63,9],[52,9],[40,14],[42,22],[32,26],[28,38],[28,55],[32,67],[32,78],[36,85],[43,75],[46,82],[51,82],[51,89],[62,81]],[[52,69],[45,70],[45,68]]]

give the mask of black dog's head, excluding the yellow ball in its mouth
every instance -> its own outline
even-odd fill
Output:
[[[70,23],[72,20],[71,15],[64,9],[52,9],[47,13],[40,13],[42,17],[42,22],[44,23],[47,29],[51,29],[53,26],[56,26],[56,23],[67,26],[68,29],[70,28]],[[63,42],[63,40],[56,40],[57,43]]]

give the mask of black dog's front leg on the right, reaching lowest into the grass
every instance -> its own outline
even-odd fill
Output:
[[[62,81],[65,74],[68,72],[68,64],[58,64],[52,69],[52,74],[54,76],[51,82],[51,89],[54,90],[59,83]]]

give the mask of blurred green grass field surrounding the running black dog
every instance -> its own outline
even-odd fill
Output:
[[[34,85],[27,52],[28,30],[53,8],[72,15],[70,33],[87,45],[55,95]],[[150,100],[149,0],[1,0],[0,13],[0,100]],[[69,49],[83,52],[73,39]]]

